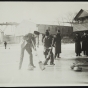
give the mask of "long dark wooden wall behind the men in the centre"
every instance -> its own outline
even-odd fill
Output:
[[[43,34],[47,29],[50,29],[50,34],[56,34],[57,30],[60,30],[62,36],[71,36],[73,33],[73,27],[70,26],[38,24],[37,27],[38,31]]]

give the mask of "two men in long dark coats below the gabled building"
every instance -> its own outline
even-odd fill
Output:
[[[81,56],[80,54],[82,52],[84,55],[88,56],[88,34],[84,32],[84,34],[80,36],[79,33],[76,33],[74,41],[76,56]]]

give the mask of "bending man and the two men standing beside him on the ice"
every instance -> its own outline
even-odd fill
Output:
[[[33,66],[35,68],[35,65],[33,63],[33,53],[32,48],[36,51],[36,37],[39,36],[38,31],[34,31],[34,33],[28,33],[23,37],[23,41],[21,43],[21,55],[20,55],[20,63],[19,63],[19,69],[22,67],[23,57],[24,57],[24,51],[26,50],[29,54],[29,66]],[[54,64],[54,59],[56,57],[60,58],[61,53],[61,36],[60,31],[57,30],[57,34],[55,36],[50,35],[49,31],[46,30],[42,42],[44,45],[44,52],[45,55],[45,61],[44,65],[47,65],[48,60],[50,60],[50,65]],[[55,58],[54,54],[52,52],[53,47],[55,47]]]

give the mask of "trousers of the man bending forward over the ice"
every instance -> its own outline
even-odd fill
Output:
[[[24,57],[24,51],[28,52],[29,54],[29,65],[34,66],[33,64],[33,54],[32,54],[32,48],[30,47],[29,44],[27,44],[25,47],[21,47],[21,55],[20,55],[20,63],[19,63],[19,69],[22,67],[22,62],[23,62],[23,57]]]

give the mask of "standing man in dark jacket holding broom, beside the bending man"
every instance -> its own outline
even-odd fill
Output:
[[[49,61],[49,59],[50,59],[50,65],[55,65],[54,58],[53,58],[53,52],[52,52],[52,41],[53,41],[52,36],[46,32],[45,37],[43,39],[44,49],[45,49],[44,55],[46,58],[44,65],[47,65],[47,62]]]

